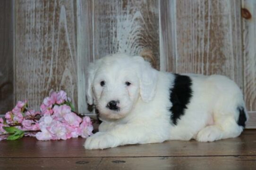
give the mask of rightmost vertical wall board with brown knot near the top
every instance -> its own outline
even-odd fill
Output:
[[[244,93],[247,109],[256,111],[256,1],[242,0],[242,8]]]

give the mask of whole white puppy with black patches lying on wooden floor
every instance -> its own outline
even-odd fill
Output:
[[[86,93],[102,121],[86,149],[235,138],[248,119],[242,92],[227,77],[159,72],[139,56],[91,64]]]

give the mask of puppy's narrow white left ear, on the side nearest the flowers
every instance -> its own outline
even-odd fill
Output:
[[[86,97],[87,97],[87,103],[89,105],[93,105],[94,103],[94,93],[93,93],[93,81],[94,81],[94,75],[95,75],[95,64],[90,63],[87,69],[87,86],[86,86]]]

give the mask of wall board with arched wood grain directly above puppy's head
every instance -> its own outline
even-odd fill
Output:
[[[94,55],[152,50],[159,69],[158,0],[94,0]]]

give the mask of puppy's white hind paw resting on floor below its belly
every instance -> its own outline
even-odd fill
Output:
[[[222,130],[216,126],[207,126],[200,130],[196,136],[199,142],[212,142],[222,138]]]

